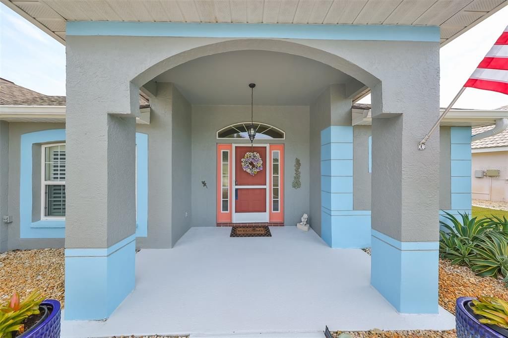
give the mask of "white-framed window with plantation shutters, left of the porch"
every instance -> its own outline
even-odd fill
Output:
[[[42,146],[41,219],[62,219],[66,212],[66,145]]]

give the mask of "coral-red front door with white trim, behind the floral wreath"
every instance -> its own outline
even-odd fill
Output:
[[[233,146],[233,222],[268,222],[268,146]],[[242,165],[246,153],[258,153],[263,161],[262,169],[251,175],[244,170],[245,165],[255,167],[250,162]]]

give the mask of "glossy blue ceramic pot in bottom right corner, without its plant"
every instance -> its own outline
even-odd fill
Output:
[[[475,298],[460,297],[455,307],[455,323],[457,338],[503,338],[505,335],[494,331],[490,327],[480,323],[467,311],[468,303]]]

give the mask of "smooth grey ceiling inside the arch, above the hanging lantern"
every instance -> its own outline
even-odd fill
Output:
[[[203,81],[206,79],[206,81]],[[321,62],[287,53],[245,50],[204,56],[157,76],[172,82],[192,104],[307,106],[329,85],[352,77]]]

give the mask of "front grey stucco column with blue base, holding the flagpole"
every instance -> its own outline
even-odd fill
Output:
[[[396,75],[396,74],[394,74]],[[400,86],[405,76],[414,87]],[[371,284],[401,313],[437,313],[439,114],[437,48],[373,88]]]

